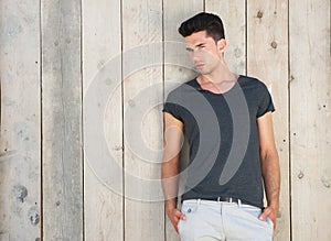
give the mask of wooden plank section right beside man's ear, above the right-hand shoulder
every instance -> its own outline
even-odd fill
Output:
[[[243,0],[224,1],[206,0],[205,11],[221,17],[227,47],[225,61],[229,69],[246,74],[246,4]]]

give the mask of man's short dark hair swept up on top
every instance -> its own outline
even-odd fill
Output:
[[[196,15],[182,22],[178,32],[183,36],[190,36],[192,33],[200,31],[206,31],[207,36],[214,39],[217,42],[221,39],[225,39],[224,26],[221,18],[213,13],[201,12]]]

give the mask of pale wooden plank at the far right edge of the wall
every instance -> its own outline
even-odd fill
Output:
[[[292,240],[330,240],[330,1],[290,1]]]

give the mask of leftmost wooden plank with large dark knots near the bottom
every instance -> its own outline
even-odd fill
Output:
[[[41,237],[40,1],[1,1],[0,240]]]

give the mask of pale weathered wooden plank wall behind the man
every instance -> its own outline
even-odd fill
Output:
[[[331,229],[329,0],[2,0],[0,241],[177,241],[160,189],[162,101],[195,73],[177,29],[225,24],[232,70],[274,97],[275,240]]]

